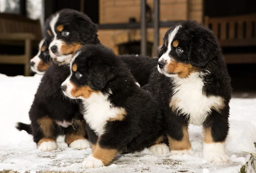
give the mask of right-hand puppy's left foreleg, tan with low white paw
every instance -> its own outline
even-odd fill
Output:
[[[180,118],[181,117],[177,117]],[[189,132],[187,123],[179,123],[180,121],[173,121],[172,125],[169,125],[167,138],[169,141],[169,147],[171,150],[171,155],[183,155],[191,154],[194,152],[191,150],[191,144],[189,142]]]

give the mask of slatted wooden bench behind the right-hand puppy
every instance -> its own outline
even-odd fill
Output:
[[[212,29],[222,48],[255,47],[256,14],[230,17],[204,18],[204,24]],[[256,63],[256,51],[253,53],[229,53],[224,57],[226,63]]]

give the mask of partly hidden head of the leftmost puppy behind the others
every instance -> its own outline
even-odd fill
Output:
[[[30,60],[31,70],[38,73],[44,74],[50,65],[50,56],[45,39],[39,43],[38,54]]]

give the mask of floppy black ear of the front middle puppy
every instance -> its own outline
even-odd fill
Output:
[[[89,86],[93,90],[101,90],[108,85],[115,75],[110,71],[109,68],[93,68],[89,73]]]

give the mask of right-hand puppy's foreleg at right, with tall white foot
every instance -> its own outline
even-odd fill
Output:
[[[228,116],[212,111],[203,125],[204,157],[209,162],[226,162],[225,139],[228,134]]]

